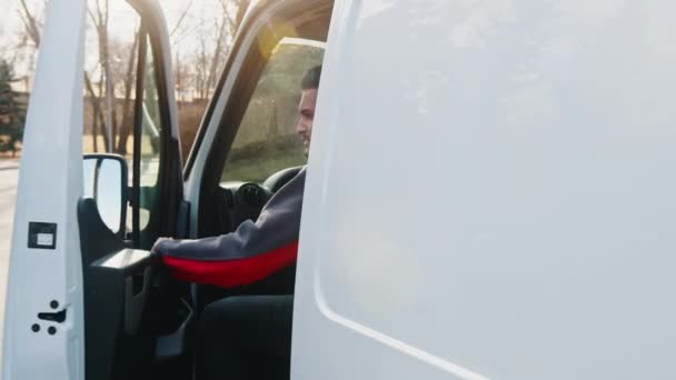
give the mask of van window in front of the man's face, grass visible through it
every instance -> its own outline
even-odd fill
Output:
[[[321,64],[324,43],[284,38],[270,52],[239,126],[221,181],[261,183],[272,173],[304,166],[304,147],[296,136],[300,80]]]

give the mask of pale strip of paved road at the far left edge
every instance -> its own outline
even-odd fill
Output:
[[[11,246],[18,179],[19,170],[7,169],[7,167],[0,166],[0,352],[2,352],[7,266],[9,264],[8,259]]]

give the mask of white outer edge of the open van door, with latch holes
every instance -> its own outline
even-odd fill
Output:
[[[76,206],[82,194],[83,0],[52,0],[30,97],[17,191],[4,320],[2,379],[82,379],[82,270]],[[29,223],[56,236],[28,248]],[[56,239],[56,241],[53,241]],[[54,309],[52,301],[58,302]],[[66,309],[62,323],[38,313]],[[32,331],[39,324],[38,332]],[[50,334],[49,328],[56,328]]]

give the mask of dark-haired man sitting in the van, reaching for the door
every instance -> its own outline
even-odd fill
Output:
[[[296,132],[306,153],[321,67],[301,81]],[[178,279],[225,288],[262,280],[296,262],[305,169],[266,204],[256,222],[199,240],[159,239],[153,252]],[[197,379],[288,379],[292,296],[231,297],[207,307],[197,332]]]

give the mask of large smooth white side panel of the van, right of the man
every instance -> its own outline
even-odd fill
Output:
[[[338,2],[292,378],[676,378],[675,11]]]

